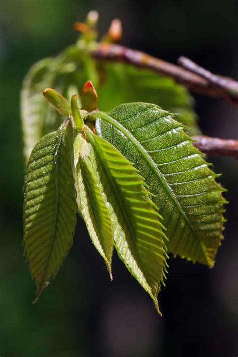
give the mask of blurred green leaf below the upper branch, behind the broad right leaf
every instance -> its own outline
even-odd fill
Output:
[[[144,101],[160,105],[188,127],[190,135],[200,134],[193,110],[194,100],[185,87],[151,70],[125,63],[103,63],[101,86],[96,87],[98,107],[108,111],[121,103]]]

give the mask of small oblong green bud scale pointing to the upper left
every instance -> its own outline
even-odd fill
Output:
[[[63,95],[57,92],[57,90],[46,88],[43,91],[43,94],[60,114],[65,117],[71,115],[70,103],[63,97]]]

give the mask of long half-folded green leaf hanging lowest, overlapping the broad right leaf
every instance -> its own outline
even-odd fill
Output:
[[[157,208],[137,170],[118,150],[86,126],[82,135],[93,148],[88,158],[101,183],[117,253],[160,312],[157,295],[163,282],[166,253]]]

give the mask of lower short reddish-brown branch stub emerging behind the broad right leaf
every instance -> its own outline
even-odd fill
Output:
[[[219,139],[206,136],[192,137],[193,145],[208,155],[233,156],[238,159],[238,140]]]

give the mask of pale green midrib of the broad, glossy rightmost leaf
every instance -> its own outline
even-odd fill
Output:
[[[162,174],[162,172],[159,170],[158,166],[156,165],[156,163],[154,162],[154,160],[150,157],[150,155],[147,153],[146,149],[138,142],[138,140],[128,131],[128,129],[126,129],[123,125],[121,125],[120,123],[118,123],[114,118],[112,118],[110,115],[101,112],[101,111],[97,111],[97,112],[93,112],[93,116],[94,117],[99,117],[104,119],[106,122],[108,122],[109,124],[113,124],[113,126],[118,129],[119,131],[121,131],[134,145],[136,145],[136,147],[139,149],[140,153],[142,154],[142,156],[146,159],[146,161],[149,163],[151,169],[156,173],[156,175],[158,176],[160,182],[162,183],[162,185],[165,187],[168,195],[170,196],[170,198],[175,202],[176,207],[178,208],[178,210],[180,211],[181,215],[184,217],[184,219],[186,220],[189,228],[191,229],[194,237],[198,240],[198,237],[196,235],[196,232],[192,226],[192,224],[190,223],[186,212],[183,210],[180,202],[178,201],[176,195],[174,194],[173,190],[171,189],[171,187],[169,186],[166,178],[164,177],[164,175]],[[199,240],[198,240],[199,241]],[[200,242],[199,242],[200,243]],[[207,261],[208,265],[210,265],[209,260],[207,259],[207,256],[204,252],[204,250],[201,247],[201,251],[204,254],[205,260]]]

